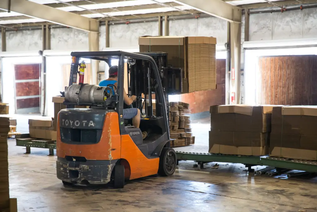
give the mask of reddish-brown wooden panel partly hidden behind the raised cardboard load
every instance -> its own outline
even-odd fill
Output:
[[[181,95],[181,101],[190,104],[191,113],[209,111],[212,105],[225,104],[226,60],[216,60],[217,89],[197,91]]]

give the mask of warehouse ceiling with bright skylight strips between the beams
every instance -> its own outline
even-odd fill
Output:
[[[72,12],[97,20],[127,21],[133,18],[158,17],[201,13],[190,6],[180,5],[172,0],[29,0],[59,10]],[[210,0],[212,1],[212,0]],[[314,0],[224,0],[225,2],[247,7],[279,6],[292,3],[313,2]],[[317,1],[317,0],[316,0]],[[257,6],[258,5],[258,6]],[[2,11],[2,10],[0,10]],[[45,20],[31,18],[14,11],[0,12],[0,25],[27,25],[41,23]]]

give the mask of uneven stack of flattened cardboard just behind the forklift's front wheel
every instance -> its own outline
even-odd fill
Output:
[[[194,144],[191,133],[191,120],[185,114],[190,113],[189,104],[184,102],[170,102],[170,136],[172,147],[181,147]]]

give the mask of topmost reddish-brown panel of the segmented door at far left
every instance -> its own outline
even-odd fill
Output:
[[[39,79],[40,64],[14,65],[16,80]]]

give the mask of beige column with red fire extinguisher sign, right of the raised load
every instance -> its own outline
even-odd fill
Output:
[[[235,102],[230,104],[240,104],[241,96],[241,24],[230,23],[230,53],[231,53],[231,77],[230,77],[230,95],[235,92]],[[233,79],[234,76],[234,79]]]

